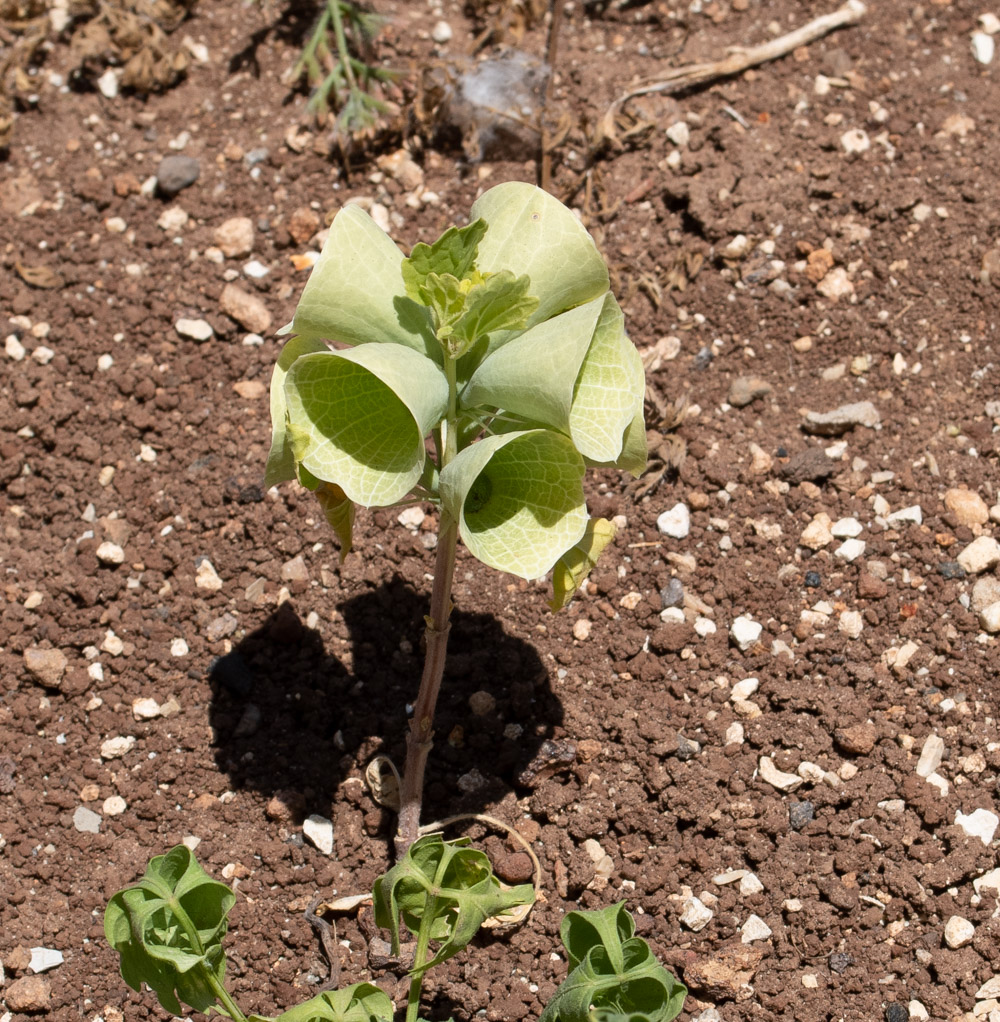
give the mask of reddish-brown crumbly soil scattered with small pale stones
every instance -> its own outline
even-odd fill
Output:
[[[377,6],[392,19],[384,55],[401,66],[426,63],[441,18],[454,31],[448,54],[483,24],[451,0],[440,12]],[[515,823],[542,861],[545,901],[437,973],[424,1014],[537,1017],[565,971],[551,955],[562,914],[627,898],[691,988],[684,1019],[716,1006],[728,1022],[896,1022],[911,1001],[933,1019],[964,1018],[1000,935],[996,891],[972,886],[994,845],[955,825],[958,811],[996,808],[1000,776],[997,639],[969,609],[976,577],[957,564],[1000,528],[1000,512],[982,513],[1000,480],[1000,65],[969,50],[986,5],[872,2],[859,27],[774,63],[636,101],[649,126],[589,178],[580,126],[634,77],[720,57],[832,5],[567,6],[549,117],[565,113],[571,131],[553,188],[598,238],[636,343],[679,338],[650,383],[695,407],[671,434],[683,444],[669,455],[686,447],[679,472],[638,503],[627,479],[591,480],[592,511],[628,525],[569,610],[552,616],[544,587],[460,559],[425,817]],[[278,17],[235,0],[198,5],[177,31],[208,61],[148,100],[108,100],[85,80],[60,92],[50,74],[67,78],[71,56],[55,47],[0,164],[0,309],[14,337],[0,356],[0,1001],[27,975],[17,948],[58,948],[46,1010],[59,1022],[109,1022],[117,1008],[162,1017],[126,990],[101,915],[185,837],[238,884],[231,986],[244,1010],[267,1014],[326,980],[303,914],[313,896],[370,889],[390,862],[392,820],[361,778],[375,751],[402,758],[433,517],[409,531],[394,513],[362,515],[357,553],[338,567],[312,498],[262,491],[279,341],[272,330],[247,344],[220,294],[237,278],[280,325],[304,280],[289,257],[309,247],[297,211],[319,219],[349,197],[375,199],[409,245],[460,220],[486,184],[534,180],[536,165],[469,164],[445,133],[416,150],[440,196],[417,210],[357,155],[347,177],[321,135],[319,154],[287,144],[305,97],[277,83],[303,27],[275,28]],[[542,54],[544,28],[521,46]],[[674,131],[675,144],[666,129],[678,122],[689,138]],[[870,146],[851,153],[842,136],[855,130]],[[139,192],[182,133],[197,182],[169,201]],[[189,219],[164,230],[172,206]],[[246,258],[206,257],[236,216],[255,224],[262,280],[243,276]],[[745,252],[732,246],[740,234]],[[29,272],[30,284],[18,264],[50,274]],[[837,284],[847,293],[830,296]],[[180,336],[181,317],[207,319],[214,337]],[[47,362],[34,355],[42,345]],[[756,397],[736,407],[741,377],[758,380]],[[877,428],[804,431],[806,412],[862,401]],[[824,449],[831,461],[817,460]],[[968,495],[946,506],[961,487],[982,507]],[[683,540],[656,527],[677,502],[691,513]],[[887,522],[914,505],[920,522]],[[816,552],[800,543],[821,512],[861,523],[860,557],[838,556],[842,539]],[[104,541],[123,563],[98,558]],[[203,559],[218,590],[196,583]],[[671,585],[683,620],[661,619]],[[741,615],[763,625],[746,649],[730,638]],[[701,637],[695,617],[717,630]],[[61,651],[64,670],[40,680],[28,667],[38,654],[26,660],[38,649]],[[734,702],[749,678],[756,705]],[[496,704],[476,716],[479,691]],[[133,715],[136,699],[171,697],[173,715]],[[933,734],[947,793],[916,773]],[[118,736],[134,745],[102,758]],[[546,739],[575,753],[533,779]],[[762,779],[765,756],[823,777],[782,791]],[[116,795],[126,807],[112,815]],[[80,806],[101,816],[98,833],[76,829]],[[331,857],[304,842],[309,814],[333,820]],[[613,863],[603,886],[590,839]],[[501,872],[522,866],[488,846]],[[758,889],[714,879],[730,870],[752,871]],[[691,892],[714,911],[698,932],[680,922]],[[771,936],[743,944],[752,914]],[[975,928],[954,948],[953,916]],[[369,975],[359,922],[337,925],[345,981]],[[394,974],[374,975],[402,991]]]

